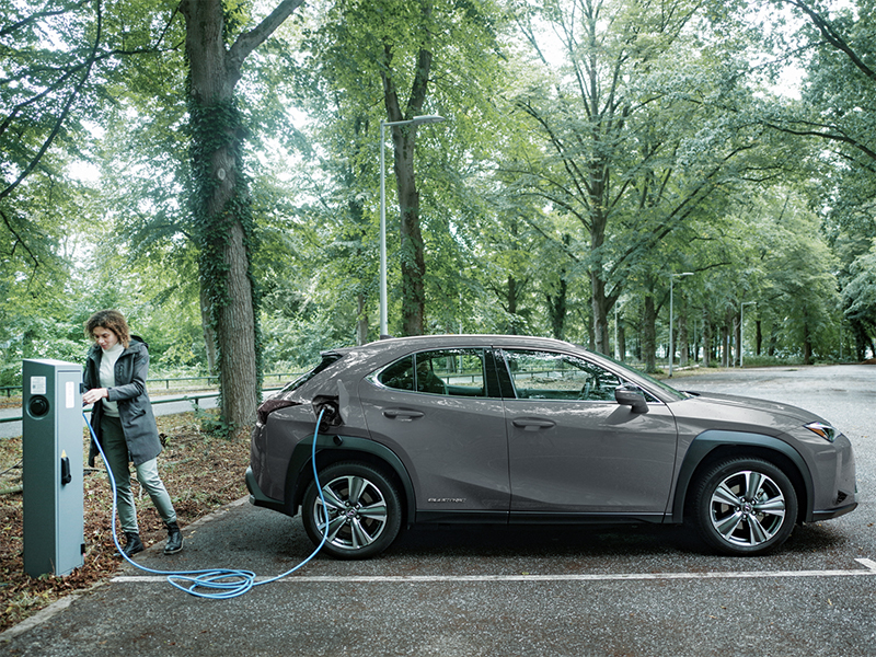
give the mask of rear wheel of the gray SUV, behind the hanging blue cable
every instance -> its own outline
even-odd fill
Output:
[[[335,558],[370,558],[392,544],[402,526],[399,491],[381,470],[358,462],[322,470],[320,484],[328,510],[328,538],[322,550]],[[322,542],[325,514],[316,484],[301,504],[304,530],[314,545]]]

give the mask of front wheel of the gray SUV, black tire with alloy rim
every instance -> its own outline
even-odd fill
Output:
[[[756,556],[784,543],[797,521],[797,494],[787,475],[762,459],[721,461],[696,480],[693,521],[722,554]]]

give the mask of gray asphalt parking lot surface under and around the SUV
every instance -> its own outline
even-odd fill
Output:
[[[853,441],[856,511],[797,528],[777,554],[716,557],[671,527],[407,532],[380,558],[318,556],[230,600],[127,568],[0,635],[0,650],[77,655],[876,655],[876,367],[677,377],[681,389],[784,401]],[[247,568],[256,581],[311,551],[300,519],[245,502],[185,528],[153,568]]]

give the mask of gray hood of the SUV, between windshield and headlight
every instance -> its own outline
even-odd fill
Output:
[[[703,429],[758,431],[777,435],[807,423],[823,419],[818,415],[780,402],[715,392],[694,392],[688,400],[670,404],[679,420],[688,419]]]

